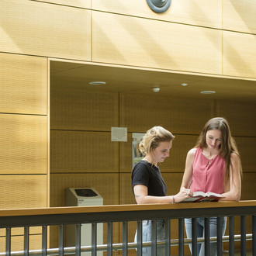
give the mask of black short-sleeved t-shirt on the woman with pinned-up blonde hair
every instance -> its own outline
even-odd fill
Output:
[[[138,184],[145,185],[147,187],[148,195],[166,195],[167,189],[160,169],[143,160],[137,162],[132,172],[132,187]]]

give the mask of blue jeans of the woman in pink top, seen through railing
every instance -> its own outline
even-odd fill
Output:
[[[205,218],[197,218],[197,237],[205,237]],[[222,218],[222,235],[225,234],[227,226],[227,217]],[[192,238],[192,219],[185,219],[185,231],[188,238]],[[209,218],[209,237],[217,236],[217,218],[210,217]],[[189,249],[192,252],[192,245],[189,244]],[[217,243],[211,242],[209,244],[209,256],[217,255]],[[197,255],[204,256],[205,255],[205,247],[204,243],[197,244]]]

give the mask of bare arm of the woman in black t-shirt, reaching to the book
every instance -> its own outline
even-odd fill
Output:
[[[178,192],[176,195],[166,195],[166,196],[152,196],[147,195],[147,186],[145,185],[135,185],[133,187],[133,192],[137,204],[147,204],[147,203],[171,203],[173,202],[182,202],[184,199],[189,198],[192,193],[189,189],[182,189],[181,192]]]

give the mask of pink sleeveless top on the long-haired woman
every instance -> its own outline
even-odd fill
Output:
[[[209,160],[202,154],[202,148],[195,151],[193,175],[190,189],[192,192],[224,192],[225,160],[219,154]]]

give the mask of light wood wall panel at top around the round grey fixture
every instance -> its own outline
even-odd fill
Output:
[[[92,9],[198,26],[221,27],[221,0],[172,0],[168,11],[153,12],[146,1],[93,0]]]

